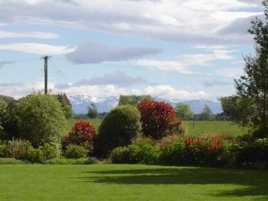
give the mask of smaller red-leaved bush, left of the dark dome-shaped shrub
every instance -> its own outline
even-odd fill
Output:
[[[72,130],[64,137],[63,149],[72,144],[92,150],[95,136],[96,131],[91,122],[77,121]]]

